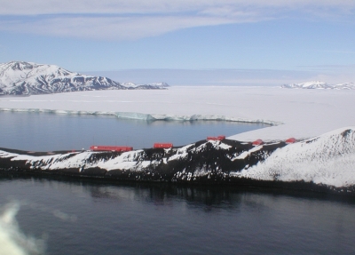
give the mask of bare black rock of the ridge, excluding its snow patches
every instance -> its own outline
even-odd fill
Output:
[[[55,161],[65,161],[77,154],[88,152],[53,152],[54,155],[49,162],[43,160],[32,160],[29,163],[27,159],[14,160],[12,157],[0,156],[0,172],[3,175],[23,174],[23,175],[41,175],[41,176],[67,176],[79,179],[106,179],[122,181],[146,181],[146,182],[168,182],[188,185],[232,185],[232,186],[260,186],[260,187],[281,187],[292,189],[305,189],[319,192],[328,192],[343,195],[353,195],[354,187],[329,187],[326,185],[316,185],[312,182],[292,181],[282,182],[277,176],[273,180],[258,180],[240,178],[231,175],[231,172],[248,169],[257,163],[263,162],[265,158],[272,154],[276,149],[285,147],[287,144],[283,141],[266,143],[261,149],[253,152],[251,143],[243,143],[236,140],[224,139],[220,144],[229,146],[228,148],[218,147],[217,143],[210,143],[201,140],[189,147],[174,147],[171,149],[147,148],[138,150],[132,157],[134,162],[150,162],[145,167],[130,169],[106,169],[97,166],[90,167],[68,167],[64,169],[48,170],[46,167]],[[182,150],[183,149],[183,150]],[[0,148],[2,151],[14,153],[17,155],[43,156],[46,152],[25,152]],[[177,156],[185,153],[184,156]],[[245,158],[235,159],[235,155],[241,155],[248,152]],[[96,152],[85,159],[85,163],[105,162],[120,156],[118,152]],[[172,158],[172,159],[171,159]],[[196,171],[199,174],[196,174]]]

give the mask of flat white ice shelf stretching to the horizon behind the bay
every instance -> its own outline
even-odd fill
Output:
[[[280,87],[173,86],[168,90],[68,92],[0,97],[1,110],[114,114],[124,118],[220,119],[271,127],[229,139],[306,139],[355,126],[355,91]]]

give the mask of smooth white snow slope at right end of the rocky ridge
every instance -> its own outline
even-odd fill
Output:
[[[264,180],[304,180],[335,187],[354,186],[355,128],[342,128],[281,147],[264,162],[233,175]]]

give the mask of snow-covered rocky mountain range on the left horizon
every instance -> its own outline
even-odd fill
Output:
[[[157,90],[166,83],[120,84],[102,76],[85,76],[54,65],[11,61],[0,64],[0,95],[36,95],[96,90]]]

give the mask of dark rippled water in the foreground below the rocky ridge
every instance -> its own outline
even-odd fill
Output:
[[[353,200],[287,192],[0,179],[45,254],[355,254]]]

